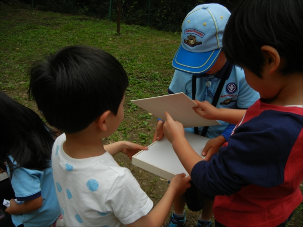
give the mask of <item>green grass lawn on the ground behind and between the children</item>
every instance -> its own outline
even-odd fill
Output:
[[[179,33],[121,24],[121,35],[118,35],[116,24],[110,21],[40,12],[0,2],[0,39],[0,89],[35,111],[36,104],[28,100],[26,93],[27,72],[33,62],[61,47],[75,44],[95,46],[114,55],[128,73],[130,86],[126,91],[125,119],[104,142],[151,143],[156,117],[130,100],[167,94],[173,75],[171,61],[180,44]],[[131,170],[156,204],[166,191],[167,182],[131,165],[124,156],[118,154],[115,159]],[[189,210],[186,213],[187,226],[195,225],[198,213]],[[301,203],[288,225],[301,226],[302,218]]]

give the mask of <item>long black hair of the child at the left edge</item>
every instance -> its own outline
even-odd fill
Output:
[[[0,168],[6,170],[6,162],[12,177],[19,167],[37,170],[50,167],[55,131],[33,110],[1,91],[0,106]]]

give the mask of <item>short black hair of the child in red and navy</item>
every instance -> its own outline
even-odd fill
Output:
[[[282,75],[303,72],[303,1],[241,1],[225,27],[226,58],[261,77],[263,45],[274,47],[286,60]]]

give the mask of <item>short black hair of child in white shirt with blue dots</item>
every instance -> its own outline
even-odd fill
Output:
[[[76,45],[34,63],[28,94],[49,125],[77,133],[107,110],[117,115],[127,86],[127,74],[114,56]]]

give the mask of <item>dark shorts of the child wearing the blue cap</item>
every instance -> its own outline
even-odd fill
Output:
[[[205,198],[212,201],[215,200],[215,196],[204,194],[192,181],[189,183],[191,187],[183,194],[188,209],[192,211],[199,211],[204,207]]]

